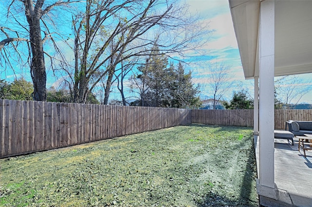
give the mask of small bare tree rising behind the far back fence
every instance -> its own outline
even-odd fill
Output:
[[[213,106],[216,109],[216,105],[220,103],[225,92],[233,84],[231,77],[229,76],[231,67],[224,63],[212,63],[209,66],[210,77],[209,77],[209,88],[212,90],[212,98],[214,100]]]

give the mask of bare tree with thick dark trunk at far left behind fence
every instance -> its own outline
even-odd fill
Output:
[[[48,1],[46,4],[45,0],[2,1],[2,3],[7,3],[8,5],[6,21],[8,22],[9,19],[12,19],[14,22],[10,23],[8,27],[0,27],[1,33],[5,36],[5,38],[0,41],[1,64],[5,64],[5,67],[9,65],[11,69],[14,69],[10,52],[12,50],[15,51],[18,59],[22,59],[22,53],[25,51],[20,50],[20,42],[26,42],[28,48],[27,62],[30,67],[30,74],[34,85],[32,96],[36,101],[46,100],[46,66],[43,43],[48,39],[52,39],[44,17],[47,17],[50,11],[55,7],[67,5],[72,2],[77,1],[67,0],[63,2],[54,0]],[[23,13],[24,16],[20,15],[21,13]],[[23,18],[26,18],[26,21],[23,21]],[[49,17],[47,18],[49,19]],[[41,24],[43,24],[44,30]],[[12,28],[10,28],[10,25],[12,25]],[[43,38],[41,36],[42,33],[44,34]],[[5,48],[5,46],[7,46],[7,48]]]

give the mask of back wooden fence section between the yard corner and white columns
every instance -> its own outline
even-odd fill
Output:
[[[253,126],[254,110],[192,110],[192,123]]]

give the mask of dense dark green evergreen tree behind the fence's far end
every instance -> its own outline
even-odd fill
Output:
[[[198,107],[199,87],[192,83],[192,73],[185,74],[183,65],[175,66],[155,48],[144,65],[138,67],[139,74],[131,78],[134,91],[140,100],[132,105],[186,108]]]

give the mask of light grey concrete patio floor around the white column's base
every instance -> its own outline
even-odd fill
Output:
[[[255,139],[258,167],[259,140]],[[287,140],[275,139],[274,182],[276,200],[260,196],[260,205],[265,207],[312,207],[312,151],[298,151],[298,139],[294,145]]]

